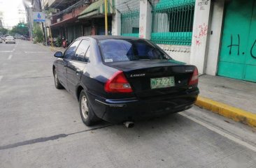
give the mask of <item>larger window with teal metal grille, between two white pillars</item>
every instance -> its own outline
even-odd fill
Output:
[[[160,0],[152,8],[151,40],[159,44],[191,45],[195,0]]]

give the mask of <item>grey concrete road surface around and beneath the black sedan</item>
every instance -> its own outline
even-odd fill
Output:
[[[49,48],[0,44],[0,167],[256,167],[256,130],[204,109],[88,128]]]

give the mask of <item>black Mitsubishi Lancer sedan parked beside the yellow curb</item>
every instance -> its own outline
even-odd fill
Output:
[[[149,40],[81,37],[55,57],[55,86],[78,99],[85,125],[181,112],[199,94],[197,68],[171,59]]]

